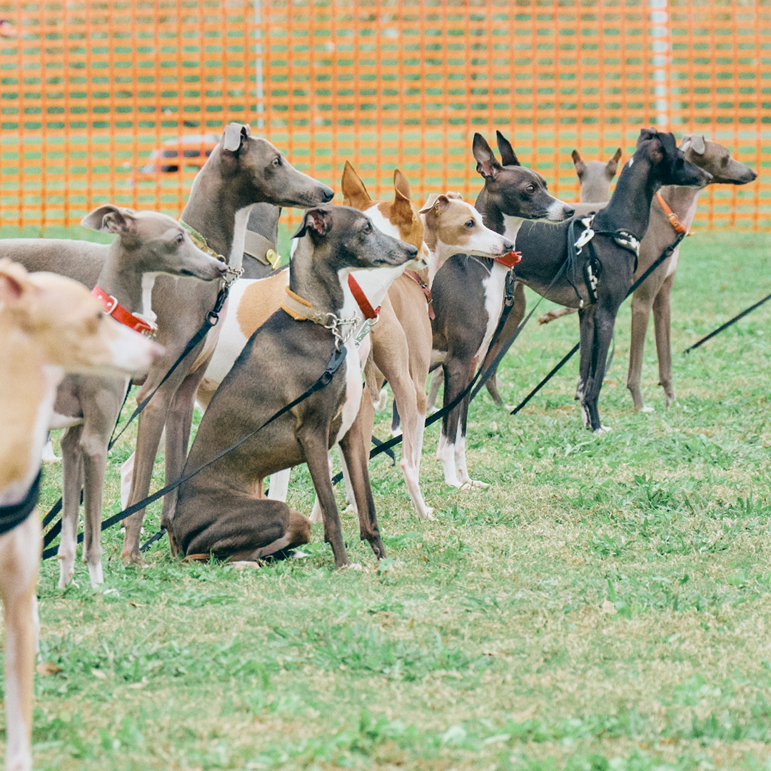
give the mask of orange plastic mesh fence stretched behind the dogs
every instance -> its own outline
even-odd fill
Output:
[[[388,195],[398,166],[421,201],[480,189],[475,131],[503,131],[565,200],[574,148],[698,131],[761,176],[709,188],[697,226],[768,227],[768,0],[43,0],[0,18],[0,225],[105,201],[179,214],[237,120],[333,187],[350,160]]]

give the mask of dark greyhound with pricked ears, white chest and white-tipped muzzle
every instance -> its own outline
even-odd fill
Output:
[[[514,244],[517,231],[528,220],[561,222],[571,217],[573,207],[550,195],[540,174],[520,166],[513,147],[500,131],[498,146],[503,163],[499,163],[481,134],[474,135],[476,170],[484,179],[475,207],[487,227]],[[503,308],[507,274],[512,264],[513,261],[505,259],[498,262],[460,254],[447,260],[436,273],[432,286],[436,312],[432,322],[433,361],[443,366],[446,405],[466,389],[476,364],[485,357]],[[521,321],[524,291],[515,286],[514,292],[515,305],[510,318],[519,312],[519,296]],[[475,484],[466,468],[468,406],[466,397],[443,417],[437,453],[446,483],[461,489]]]

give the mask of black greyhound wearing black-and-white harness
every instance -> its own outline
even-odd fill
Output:
[[[634,281],[651,201],[662,185],[703,187],[710,180],[710,173],[685,160],[671,133],[643,129],[637,150],[621,170],[608,206],[595,214],[585,229],[577,220],[555,227],[537,223],[520,227],[517,251],[522,259],[514,269],[517,280],[552,301],[580,308],[577,399],[584,425],[594,431],[604,429],[598,400],[605,362],[618,308]],[[568,244],[571,232],[578,236],[572,264]]]

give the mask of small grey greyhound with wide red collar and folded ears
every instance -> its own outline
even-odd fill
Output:
[[[153,333],[150,308],[153,284],[160,274],[203,281],[224,278],[227,266],[201,251],[176,220],[152,211],[113,205],[93,210],[81,223],[117,235],[109,245],[94,292],[105,311],[137,331]],[[126,377],[67,375],[56,396],[53,428],[62,436],[62,538],[59,543],[59,588],[75,574],[80,488],[83,487],[83,561],[91,585],[104,582],[99,542],[107,446],[129,386]]]

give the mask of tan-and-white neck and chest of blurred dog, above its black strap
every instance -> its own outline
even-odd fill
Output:
[[[30,336],[4,322],[0,311],[0,356],[5,362],[0,368],[0,506],[10,506],[24,499],[38,475],[64,372],[46,365]]]

